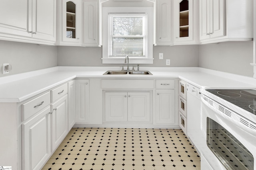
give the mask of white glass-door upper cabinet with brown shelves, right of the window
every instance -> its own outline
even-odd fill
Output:
[[[198,42],[198,0],[174,0],[174,44]]]

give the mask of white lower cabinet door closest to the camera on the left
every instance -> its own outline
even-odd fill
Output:
[[[22,124],[22,169],[38,170],[51,155],[50,106]]]

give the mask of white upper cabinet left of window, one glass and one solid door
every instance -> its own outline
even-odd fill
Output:
[[[101,47],[98,0],[62,0],[58,10],[57,45]]]

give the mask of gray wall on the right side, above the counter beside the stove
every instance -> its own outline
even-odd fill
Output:
[[[230,41],[199,46],[199,66],[253,76],[253,41]]]

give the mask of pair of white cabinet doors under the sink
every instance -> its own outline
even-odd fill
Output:
[[[106,121],[150,121],[150,92],[105,92]]]

